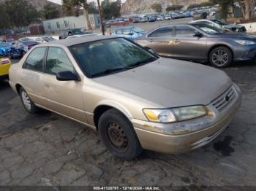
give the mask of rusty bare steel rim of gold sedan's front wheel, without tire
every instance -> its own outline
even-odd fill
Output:
[[[128,139],[125,136],[123,128],[116,122],[110,122],[108,125],[107,135],[110,143],[118,150],[126,150]]]

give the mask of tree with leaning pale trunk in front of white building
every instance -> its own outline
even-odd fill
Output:
[[[91,29],[91,23],[89,20],[89,12],[88,12],[88,9],[89,9],[88,0],[62,0],[62,3],[63,3],[62,6],[64,7],[64,9],[67,9],[67,11],[75,9],[76,12],[78,12],[78,15],[80,13],[79,10],[83,8],[84,13],[86,15],[86,28]]]

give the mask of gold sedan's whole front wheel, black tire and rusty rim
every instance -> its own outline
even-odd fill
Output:
[[[99,117],[99,138],[114,156],[132,160],[140,155],[140,141],[132,123],[116,109],[110,109]]]

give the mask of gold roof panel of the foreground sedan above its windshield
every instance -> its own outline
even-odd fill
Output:
[[[86,42],[94,42],[94,41],[98,41],[98,40],[105,40],[105,39],[116,39],[118,38],[117,36],[109,36],[109,35],[90,35],[90,36],[81,36],[78,38],[71,38],[71,39],[61,39],[61,40],[57,40],[54,42],[47,42],[45,43],[45,45],[47,44],[61,44],[64,45],[66,47],[70,47],[76,44],[83,44]]]

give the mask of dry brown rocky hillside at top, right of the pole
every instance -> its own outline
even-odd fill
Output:
[[[140,12],[154,12],[151,9],[152,4],[162,4],[162,8],[166,9],[166,7],[172,4],[182,4],[184,7],[187,7],[189,4],[201,3],[207,0],[127,0],[124,4],[122,4],[121,12],[124,15],[140,13]]]

